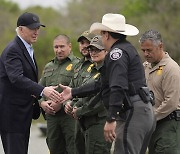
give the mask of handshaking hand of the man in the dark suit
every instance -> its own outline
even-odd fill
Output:
[[[55,90],[56,87],[50,86],[45,87],[43,89],[43,95],[46,96],[48,99],[52,100],[53,102],[61,102],[63,101],[63,98],[61,97],[61,94]]]

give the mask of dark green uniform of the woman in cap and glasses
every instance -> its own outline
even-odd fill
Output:
[[[100,68],[101,66],[92,67],[91,74],[84,79],[83,84],[98,80]],[[111,144],[104,138],[107,111],[102,103],[101,95],[90,94],[88,97],[79,98],[77,104],[81,104],[76,115],[85,133],[85,154],[109,154]]]

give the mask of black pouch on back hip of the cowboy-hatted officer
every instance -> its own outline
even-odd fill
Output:
[[[143,100],[144,103],[148,103],[151,101],[151,95],[150,95],[150,91],[148,87],[141,87],[139,89],[139,95],[141,97],[141,99]]]

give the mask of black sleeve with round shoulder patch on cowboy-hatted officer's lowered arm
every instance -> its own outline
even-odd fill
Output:
[[[124,90],[128,89],[128,55],[116,48],[110,52],[106,62],[110,88],[109,114],[116,115],[121,110]]]

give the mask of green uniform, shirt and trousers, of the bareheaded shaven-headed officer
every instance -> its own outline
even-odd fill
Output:
[[[70,54],[66,59],[57,58],[49,62],[44,69],[40,84],[43,86],[69,85],[74,76],[74,66],[79,59]],[[61,89],[57,89],[61,92]],[[42,101],[42,100],[41,100]],[[61,108],[55,115],[46,114],[47,145],[50,154],[74,153],[74,125],[75,120]]]

